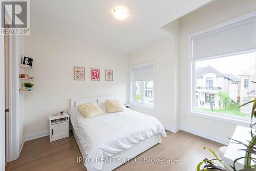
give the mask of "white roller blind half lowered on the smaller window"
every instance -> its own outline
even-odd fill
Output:
[[[153,80],[153,65],[132,68],[132,81]]]

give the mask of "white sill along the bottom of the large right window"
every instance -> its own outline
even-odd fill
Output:
[[[234,125],[240,125],[245,127],[250,127],[250,118],[242,118],[242,117],[233,117],[225,114],[217,114],[217,113],[205,113],[199,111],[190,112],[190,116],[196,116],[200,118],[220,121],[224,123],[230,123]]]

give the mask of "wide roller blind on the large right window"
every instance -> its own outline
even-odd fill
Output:
[[[256,49],[256,16],[195,36],[192,58]]]

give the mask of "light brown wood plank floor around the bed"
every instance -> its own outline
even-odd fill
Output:
[[[176,134],[167,132],[167,137],[162,143],[155,145],[136,157],[136,163],[125,163],[116,168],[115,171],[133,170],[178,170],[193,171],[197,164],[205,157],[212,156],[203,147],[212,147],[218,152],[220,143],[179,131]],[[83,163],[77,163],[77,157],[81,157],[73,134],[70,137],[49,141],[49,137],[42,137],[27,141],[24,144],[20,157],[7,163],[6,170],[36,171],[36,170],[83,170]],[[180,162],[170,163],[143,163],[144,157],[151,158],[179,158]],[[141,161],[141,163],[139,163]]]

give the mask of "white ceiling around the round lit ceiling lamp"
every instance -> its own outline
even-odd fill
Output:
[[[169,37],[162,26],[211,0],[44,0],[30,1],[33,32],[89,42],[118,53],[130,54]],[[116,6],[130,16],[118,20]]]

